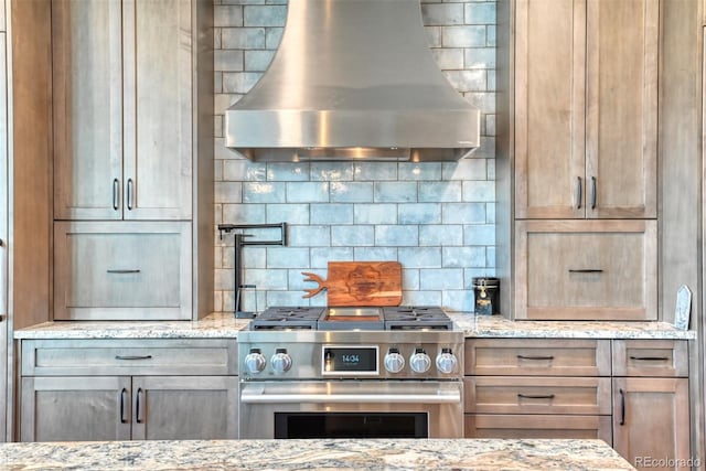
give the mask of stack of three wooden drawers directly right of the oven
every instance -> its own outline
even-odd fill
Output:
[[[468,438],[598,438],[612,443],[610,341],[466,342]]]

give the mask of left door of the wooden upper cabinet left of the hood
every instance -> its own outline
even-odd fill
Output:
[[[120,1],[52,2],[54,217],[122,217]]]

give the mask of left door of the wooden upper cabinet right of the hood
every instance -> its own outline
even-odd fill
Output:
[[[517,0],[518,218],[585,216],[585,0]]]

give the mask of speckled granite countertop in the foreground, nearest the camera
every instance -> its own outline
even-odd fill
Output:
[[[0,443],[4,470],[633,470],[601,440],[193,440]]]

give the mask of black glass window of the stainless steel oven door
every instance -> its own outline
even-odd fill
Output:
[[[275,438],[429,438],[426,413],[275,413]]]

